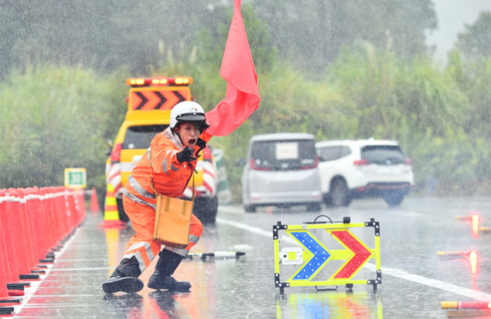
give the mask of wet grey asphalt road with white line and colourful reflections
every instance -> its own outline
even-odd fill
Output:
[[[481,226],[491,226],[491,198],[410,196],[400,207],[388,207],[383,200],[355,200],[349,207],[323,207],[320,213],[304,212],[302,207],[257,213],[244,213],[240,206],[219,207],[216,224],[205,225],[192,251],[246,255],[184,260],[175,277],[191,282],[191,293],[144,288],[133,295],[105,295],[101,289],[132,230],[104,230],[99,226],[102,214],[89,213],[42,281],[26,289],[15,318],[447,318],[442,301],[491,301],[491,232],[474,238],[472,223],[455,218],[472,212],[481,214]],[[355,284],[351,291],[345,286],[328,291],[300,286],[279,293],[273,225],[300,225],[320,214],[333,221],[343,216],[350,216],[352,223],[379,221],[382,284],[376,290]],[[374,232],[368,228],[370,232],[352,232],[373,248]],[[283,238],[280,245],[295,246]],[[327,248],[330,244],[325,243]],[[467,257],[439,257],[440,250],[476,250],[477,264],[472,268]],[[153,264],[141,275],[144,282]],[[295,266],[280,269],[286,279]],[[375,269],[372,259],[356,278],[373,279]]]

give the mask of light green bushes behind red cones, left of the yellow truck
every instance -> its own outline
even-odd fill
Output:
[[[0,87],[1,187],[61,185],[67,167],[85,167],[87,182],[100,186],[107,117],[116,106],[107,101],[118,95],[117,82],[69,67],[28,68],[9,79]]]

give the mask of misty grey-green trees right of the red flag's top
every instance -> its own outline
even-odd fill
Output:
[[[368,41],[411,60],[427,52],[424,32],[436,28],[430,0],[254,1],[282,59],[316,72],[343,46]]]

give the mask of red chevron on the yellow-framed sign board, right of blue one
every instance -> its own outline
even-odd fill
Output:
[[[363,243],[347,230],[336,230],[331,232],[331,234],[354,253],[353,257],[346,261],[343,268],[334,275],[334,279],[350,278],[365,264],[365,261],[372,257],[372,252],[365,248]]]

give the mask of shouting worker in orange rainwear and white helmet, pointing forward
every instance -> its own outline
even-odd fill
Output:
[[[179,197],[191,178],[200,151],[212,135],[205,132],[209,124],[203,107],[193,101],[175,105],[169,122],[169,128],[152,139],[150,148],[132,170],[123,191],[124,210],[136,234],[130,239],[119,266],[103,283],[105,293],[140,291],[144,283],[138,277],[157,254],[159,259],[155,272],[148,279],[148,288],[171,291],[189,291],[191,288],[189,282],[179,282],[172,275],[200,239],[203,225],[191,215],[186,248],[165,246],[161,250],[162,245],[152,240],[156,200],[149,183],[150,165],[155,190],[164,196]]]

